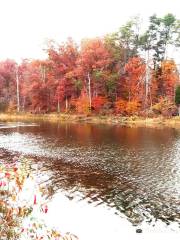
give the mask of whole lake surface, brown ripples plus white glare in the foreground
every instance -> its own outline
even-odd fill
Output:
[[[0,157],[29,159],[50,189],[46,221],[80,239],[115,240],[137,229],[180,233],[177,129],[1,123]]]

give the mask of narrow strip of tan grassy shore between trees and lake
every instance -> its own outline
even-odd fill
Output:
[[[128,127],[172,127],[180,129],[180,117],[141,118],[137,116],[122,117],[116,115],[77,115],[65,113],[30,114],[0,113],[0,121],[49,121],[64,123],[118,124]]]

